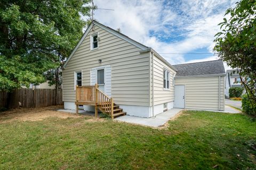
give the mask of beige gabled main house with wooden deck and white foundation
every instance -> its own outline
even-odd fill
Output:
[[[177,68],[152,48],[93,21],[62,67],[64,107],[83,106],[112,118],[155,116],[174,107]],[[213,81],[218,88],[218,79]]]

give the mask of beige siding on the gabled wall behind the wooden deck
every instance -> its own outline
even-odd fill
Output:
[[[99,33],[98,50],[91,50],[90,35]],[[149,106],[149,53],[94,26],[63,69],[63,101],[75,102],[74,72],[82,70],[82,85],[90,85],[90,70],[111,66],[111,96],[117,104]],[[98,63],[101,59],[102,63]]]

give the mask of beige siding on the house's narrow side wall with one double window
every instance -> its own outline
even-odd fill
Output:
[[[153,60],[151,60],[151,65],[153,64],[152,62]],[[170,72],[170,89],[168,90],[164,89],[164,69]],[[152,68],[151,72],[153,72]],[[154,105],[174,101],[173,77],[175,74],[176,72],[171,67],[154,55]],[[151,75],[151,84],[152,79],[153,75]],[[150,101],[151,100],[152,99],[150,99]]]

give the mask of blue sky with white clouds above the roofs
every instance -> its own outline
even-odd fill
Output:
[[[218,23],[237,1],[94,0],[98,8],[114,9],[95,10],[94,18],[152,47],[171,64],[209,61],[218,59],[212,50],[214,35],[220,30]]]

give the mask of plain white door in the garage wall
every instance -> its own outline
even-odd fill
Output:
[[[174,107],[182,109],[185,108],[185,85],[175,85]]]

